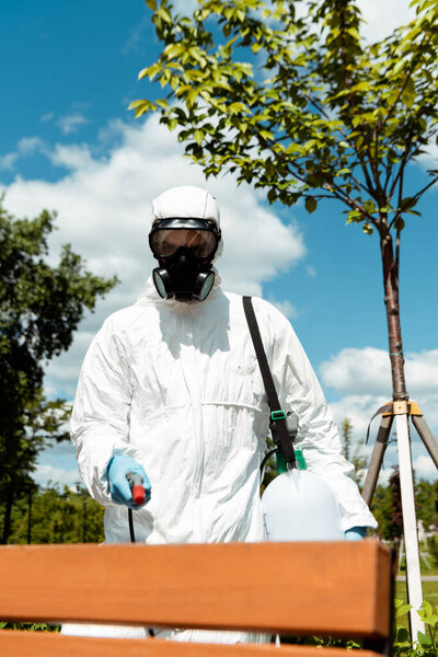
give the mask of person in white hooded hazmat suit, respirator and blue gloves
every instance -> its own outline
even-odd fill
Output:
[[[260,463],[269,410],[242,297],[222,291],[212,265],[222,250],[216,199],[192,186],[164,192],[152,204],[149,243],[158,267],[137,302],[112,314],[94,337],[71,418],[81,476],[105,507],[106,542],[130,540],[128,472],[140,474],[148,492],[134,511],[138,542],[264,540]],[[253,304],[281,408],[299,418],[296,445],[332,487],[347,538],[361,538],[377,523],[341,454],[313,369],[286,318],[260,298]],[[108,625],[62,632],[148,634]],[[258,641],[199,630],[158,635]]]

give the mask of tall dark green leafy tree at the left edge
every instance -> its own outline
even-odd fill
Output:
[[[116,284],[85,270],[64,246],[47,262],[55,215],[16,219],[0,203],[0,542],[8,542],[14,499],[31,484],[38,453],[67,437],[67,407],[43,395],[44,365],[68,349],[85,309]]]

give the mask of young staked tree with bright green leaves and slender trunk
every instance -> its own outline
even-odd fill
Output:
[[[438,4],[365,45],[354,0],[203,0],[192,18],[147,0],[163,44],[139,73],[169,90],[131,103],[178,128],[207,176],[237,172],[270,203],[337,199],[347,223],[376,231],[383,268],[394,400],[407,400],[399,267],[406,218],[434,185],[405,194],[410,163],[437,136]],[[297,10],[302,7],[301,16]],[[256,66],[255,66],[256,65]]]

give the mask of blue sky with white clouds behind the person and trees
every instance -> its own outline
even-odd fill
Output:
[[[360,4],[369,21],[367,38],[384,36],[383,27],[390,31],[394,21],[410,15],[405,0]],[[158,51],[143,0],[7,0],[1,18],[0,186],[5,205],[21,216],[57,209],[53,256],[61,243],[71,242],[93,270],[117,273],[123,280],[82,323],[71,350],[47,370],[48,393],[72,399],[91,337],[106,314],[135,301],[151,269],[146,242],[150,200],[174,184],[201,185],[203,175],[182,158],[174,134],[154,117],[135,122],[127,111],[131,100],[158,92],[137,82],[138,71]],[[428,164],[410,169],[406,193],[427,182]],[[300,205],[269,206],[263,194],[238,188],[229,176],[208,187],[222,209],[226,252],[218,268],[224,287],[263,295],[284,310],[336,420],[350,417],[356,436],[364,435],[374,410],[391,396],[376,235],[346,227],[343,208],[334,201],[309,216]],[[422,203],[423,217],[407,223],[401,268],[407,384],[435,431],[437,194],[438,188],[430,191]],[[417,476],[435,477],[415,437],[413,450]],[[394,450],[387,472],[392,462]],[[36,477],[72,483],[78,477],[72,448],[46,453]]]

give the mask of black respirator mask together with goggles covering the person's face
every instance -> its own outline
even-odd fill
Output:
[[[215,283],[211,262],[220,230],[208,219],[158,219],[149,245],[160,266],[152,270],[162,299],[204,301]]]

